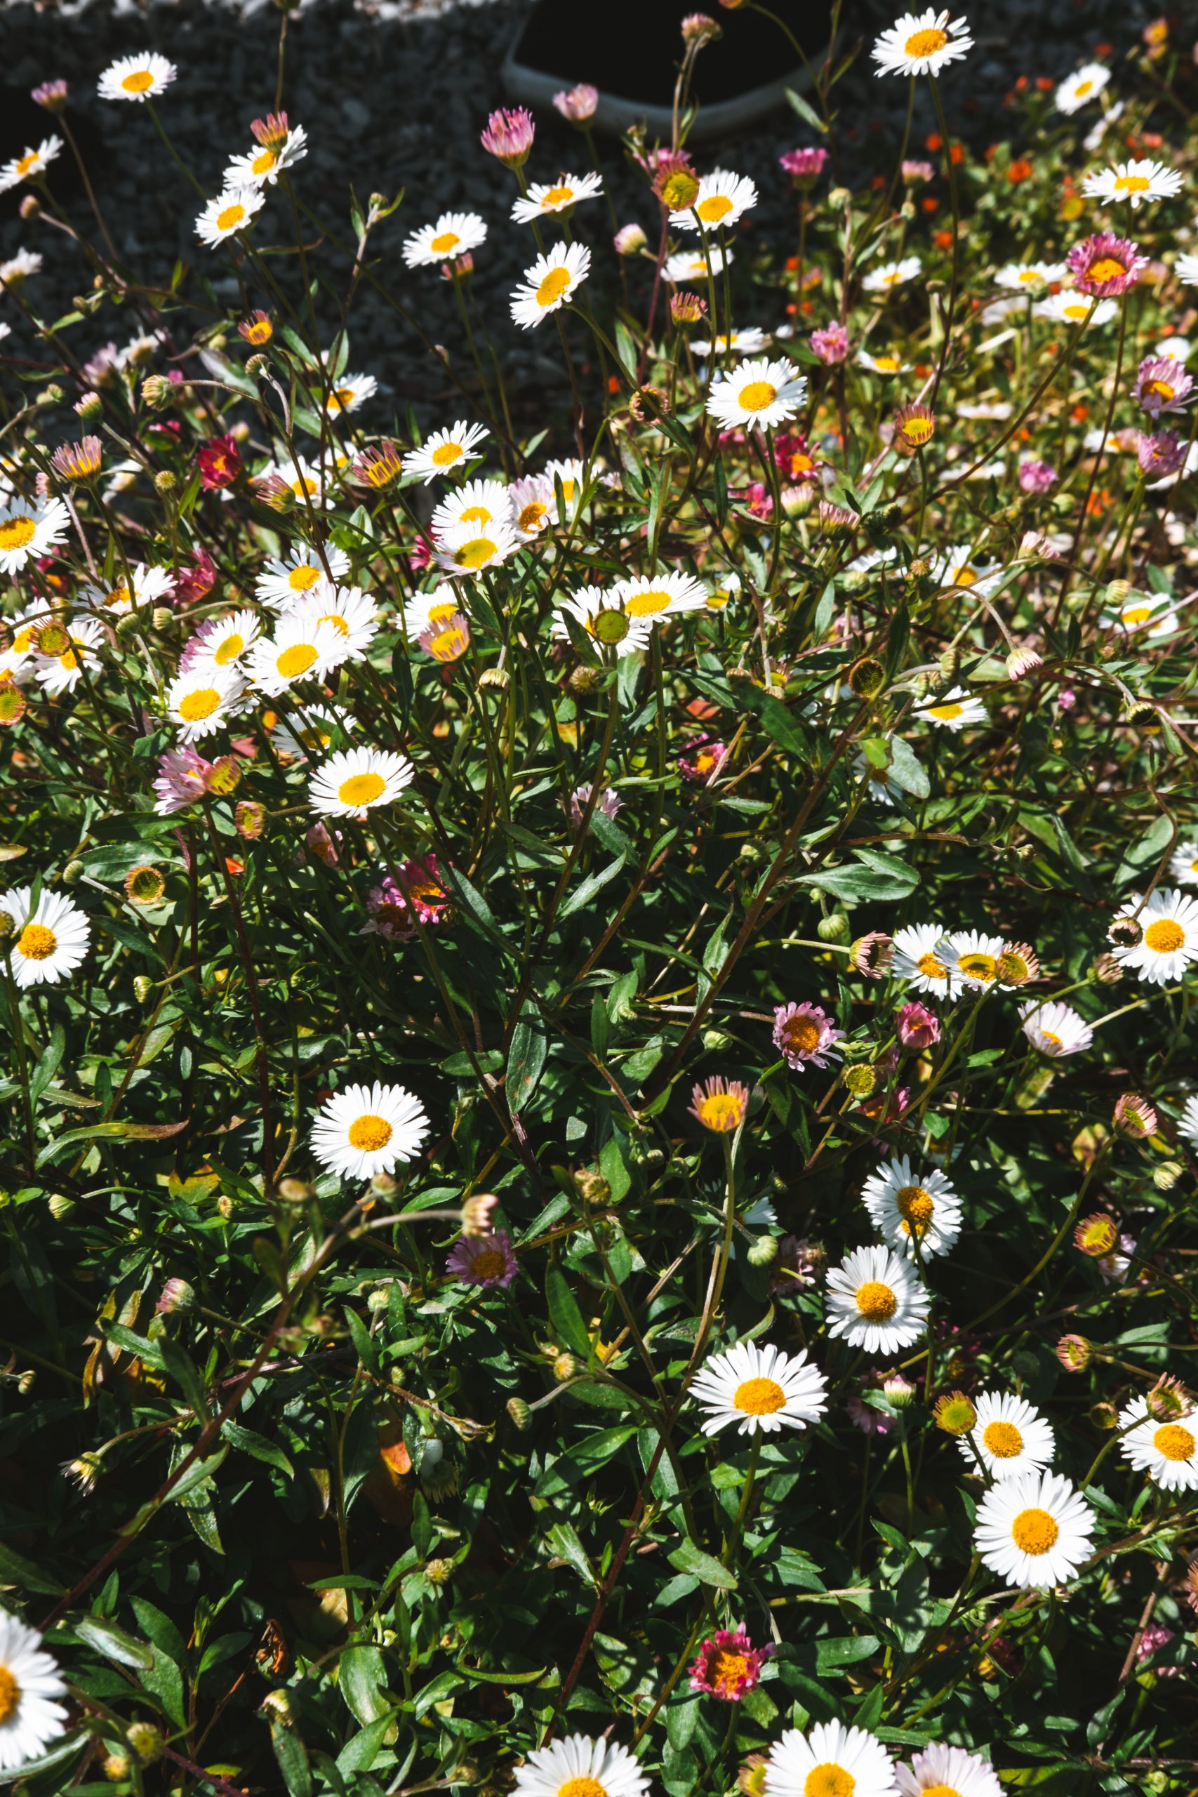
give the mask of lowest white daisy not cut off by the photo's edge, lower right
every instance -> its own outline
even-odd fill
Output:
[[[990,1486],[973,1545],[1008,1585],[1060,1585],[1090,1553],[1092,1527],[1094,1511],[1069,1479],[1026,1472]]]

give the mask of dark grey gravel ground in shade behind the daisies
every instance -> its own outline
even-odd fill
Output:
[[[84,0],[86,4],[86,0]],[[298,167],[298,185],[307,203],[336,232],[348,232],[347,189],[352,181],[361,196],[372,190],[406,190],[395,217],[379,234],[377,275],[390,293],[418,316],[429,334],[445,345],[463,379],[471,379],[469,358],[447,286],[435,270],[404,268],[401,243],[408,230],[436,216],[442,208],[462,207],[481,212],[490,237],[478,252],[476,288],[487,318],[496,331],[499,354],[512,370],[519,394],[530,399],[530,417],[544,412],[544,395],[562,390],[562,361],[555,332],[542,327],[521,336],[507,323],[507,293],[532,261],[528,226],[510,223],[514,198],[512,174],[478,147],[478,131],[490,108],[505,101],[501,63],[521,22],[526,0],[489,0],[458,4],[445,11],[445,0],[390,0],[375,16],[348,0],[316,0],[293,16],[287,43],[287,79],[284,102],[293,122],[307,128],[311,153]],[[650,0],[652,4],[652,0]],[[713,11],[717,11],[713,7]],[[404,16],[379,16],[402,13]],[[889,23],[889,0],[859,0],[853,29],[866,43],[878,23]],[[950,126],[973,146],[1000,138],[1006,129],[1002,99],[1020,74],[1060,77],[1076,66],[1099,41],[1114,45],[1115,68],[1135,41],[1144,22],[1153,16],[1148,0],[1081,0],[1081,4],[1045,7],[1040,0],[991,0],[984,9],[970,7],[977,47],[965,65],[943,81]],[[736,31],[735,14],[720,13],[727,32]],[[63,75],[72,86],[72,124],[84,146],[93,185],[120,255],[154,280],[169,280],[171,268],[183,259],[214,280],[221,302],[235,302],[237,288],[228,279],[228,262],[201,248],[194,237],[199,199],[181,171],[160,144],[142,106],[102,104],[95,97],[95,77],[113,58],[129,50],[156,49],[180,70],[178,83],[160,102],[162,119],[205,192],[216,192],[228,155],[250,146],[250,119],[269,110],[275,92],[278,13],[271,5],[241,7],[239,0],[216,5],[154,5],[113,9],[111,0],[92,0],[83,16],[65,9],[36,11],[7,5],[0,13],[0,54],[4,58],[4,93],[0,93],[0,160],[20,155],[36,142],[50,120],[31,106],[27,93],[38,81]],[[634,47],[630,47],[634,54]],[[720,54],[718,45],[702,52]],[[780,66],[783,66],[780,56]],[[586,66],[578,79],[586,79]],[[1130,79],[1117,74],[1121,79]],[[925,83],[920,84],[925,90]],[[702,59],[699,65],[702,95]],[[907,88],[903,81],[878,81],[864,52],[835,90],[841,128],[850,165],[850,180],[868,178],[889,167],[902,135]],[[921,92],[920,104],[927,104]],[[934,128],[930,111],[918,115],[916,144]],[[1167,126],[1166,126],[1167,129]],[[754,176],[762,203],[751,216],[751,232],[769,232],[794,217],[787,180],[776,167],[783,149],[812,142],[815,133],[783,108],[718,149],[718,162]],[[603,146],[609,185],[621,221],[639,219],[650,226],[652,214],[643,187],[621,165],[620,149]],[[704,151],[700,165],[717,160]],[[530,176],[551,178],[559,169],[586,169],[584,140],[555,113],[537,119],[537,144]],[[86,194],[68,167],[56,164],[56,190],[81,226],[88,219]],[[45,270],[29,284],[29,300],[43,316],[70,307],[72,295],[84,284],[77,252],[59,232],[41,221],[18,217],[20,190],[0,196],[0,246],[13,255],[18,244],[40,250]],[[271,198],[262,214],[268,237],[286,239],[284,203]],[[578,234],[600,250],[609,273],[607,244],[611,226],[602,201],[580,210]],[[309,234],[313,235],[313,234]],[[738,257],[736,279],[747,280],[749,253]],[[277,264],[284,268],[286,264]],[[291,264],[293,266],[293,264]],[[323,264],[322,264],[323,266]],[[338,284],[343,264],[334,255],[327,268]],[[634,270],[634,298],[641,270]],[[190,284],[189,291],[198,291]],[[262,302],[253,297],[253,304]],[[332,302],[322,302],[332,320]],[[776,323],[778,297],[771,291],[740,293],[740,323]],[[0,297],[0,316],[14,325],[4,345],[11,359],[34,354],[9,297]],[[75,352],[93,350],[115,340],[128,341],[137,325],[131,316],[117,316],[106,305],[72,332]],[[90,332],[90,336],[88,336]],[[444,368],[420,347],[415,332],[381,295],[361,289],[350,322],[354,368],[379,377],[381,394],[370,410],[359,413],[366,429],[386,429],[408,403],[417,401],[422,417],[444,420],[453,404],[453,390]],[[32,372],[31,372],[32,377]]]

